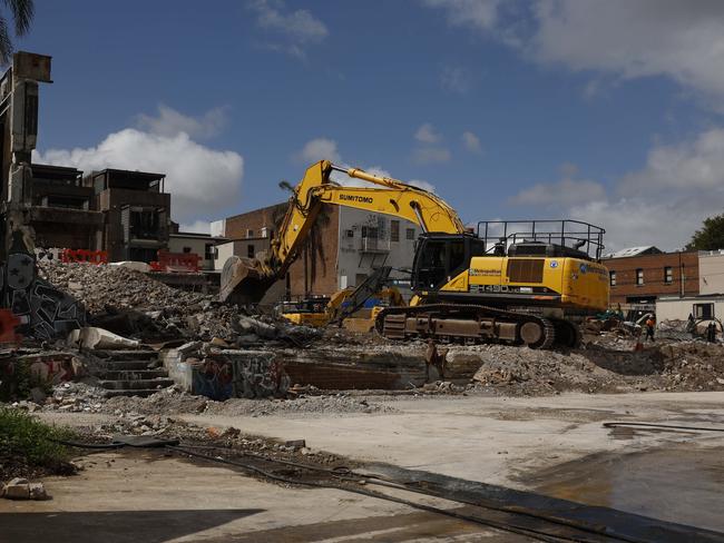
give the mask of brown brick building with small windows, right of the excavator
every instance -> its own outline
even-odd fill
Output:
[[[696,296],[699,292],[696,251],[605,258],[610,303],[650,304],[661,297]]]

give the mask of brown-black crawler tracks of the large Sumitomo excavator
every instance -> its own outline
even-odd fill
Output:
[[[573,348],[580,344],[569,320],[472,304],[425,304],[388,307],[375,319],[376,332],[397,340],[509,343],[536,349]]]

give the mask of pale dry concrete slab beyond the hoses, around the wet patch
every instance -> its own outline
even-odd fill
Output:
[[[578,462],[578,471],[585,472],[588,458],[600,460],[603,454],[615,465],[629,453],[644,455],[645,462],[646,454],[661,453],[664,448],[717,451],[724,447],[721,432],[622,433],[601,425],[606,421],[646,421],[716,426],[724,419],[724,393],[571,394],[528,398],[438,396],[389,402],[398,412],[351,416],[306,414],[296,418],[288,414],[184,415],[183,418],[217,428],[234,426],[270,437],[304,438],[312,448],[366,462],[384,462],[518,490],[545,486],[538,475],[566,463]],[[710,455],[710,463],[712,457],[718,456]],[[711,472],[717,467],[702,470]],[[600,493],[594,497],[581,492],[577,497],[566,485],[560,485],[560,497],[724,531],[724,524],[712,522],[714,514],[695,514],[697,507],[706,510],[717,507],[714,503],[724,503],[724,487],[687,485],[683,478],[675,485],[662,484],[654,475],[645,481],[648,494],[639,493],[637,500],[616,500],[615,492],[607,494],[608,502]],[[547,491],[555,494],[552,487]],[[665,498],[661,495],[664,492]],[[693,505],[677,506],[682,498]]]

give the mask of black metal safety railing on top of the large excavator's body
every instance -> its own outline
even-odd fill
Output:
[[[545,243],[568,247],[600,260],[605,248],[604,234],[599,226],[581,220],[481,220],[478,223],[478,237],[486,243],[488,250],[496,247],[507,249],[520,243]]]

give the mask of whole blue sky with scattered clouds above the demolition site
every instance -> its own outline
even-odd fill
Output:
[[[36,1],[38,159],[168,174],[175,220],[332,158],[466,221],[570,217],[681,247],[724,206],[724,2]]]

